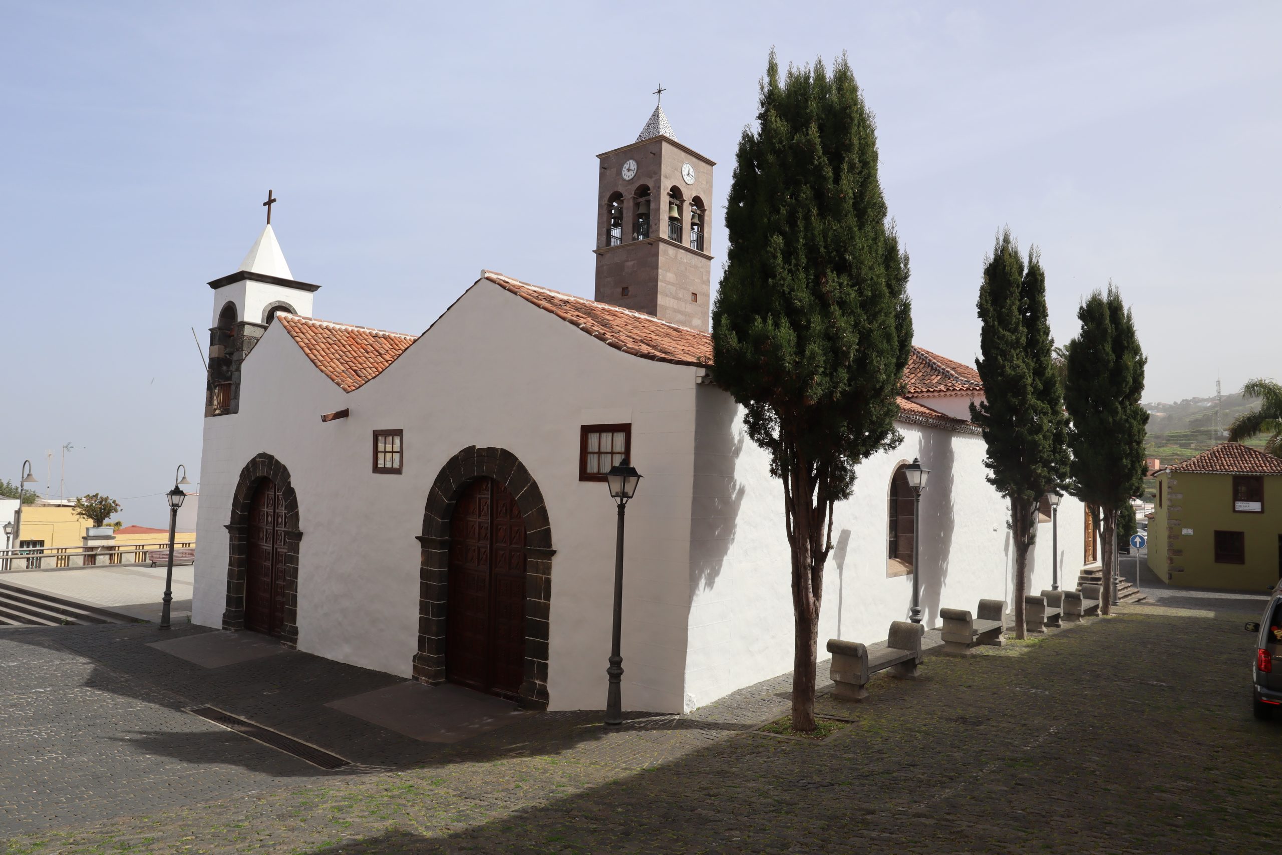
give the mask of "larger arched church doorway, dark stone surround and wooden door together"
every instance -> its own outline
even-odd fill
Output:
[[[418,540],[414,678],[450,679],[546,709],[556,550],[526,467],[505,449],[459,451],[432,483]]]

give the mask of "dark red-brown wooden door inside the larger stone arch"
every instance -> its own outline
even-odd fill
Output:
[[[526,660],[526,526],[490,478],[469,483],[450,519],[445,673],[483,692],[515,695]]]

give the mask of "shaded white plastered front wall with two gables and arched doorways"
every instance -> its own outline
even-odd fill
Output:
[[[349,418],[320,423],[344,408]],[[231,494],[267,451],[299,496],[300,650],[409,676],[427,492],[464,447],[505,447],[538,482],[556,549],[550,708],[600,709],[615,506],[603,483],[578,481],[578,445],[581,424],[606,420],[631,420],[645,476],[627,514],[624,705],[681,710],[695,369],[628,356],[486,281],[350,395],[268,328],[245,361],[240,413],[205,420],[194,620],[221,626]],[[374,428],[405,432],[403,474],[370,472]]]

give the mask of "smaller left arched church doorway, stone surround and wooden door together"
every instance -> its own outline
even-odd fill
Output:
[[[299,499],[290,470],[269,454],[241,469],[227,524],[223,629],[251,629],[296,645]]]

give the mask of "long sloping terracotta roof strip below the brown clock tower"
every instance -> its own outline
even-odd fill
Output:
[[[482,270],[481,277],[626,354],[677,365],[713,363],[713,338],[706,332],[608,303],[540,288],[494,270]]]

